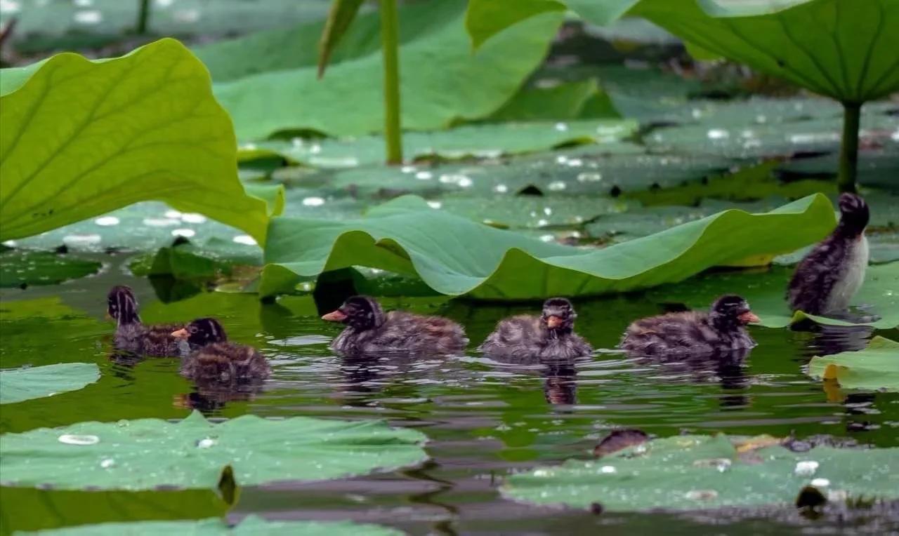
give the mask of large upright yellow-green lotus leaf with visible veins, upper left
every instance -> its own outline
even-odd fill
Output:
[[[98,61],[59,54],[24,72],[0,97],[3,239],[158,199],[264,242],[266,204],[237,180],[231,121],[181,43]]]

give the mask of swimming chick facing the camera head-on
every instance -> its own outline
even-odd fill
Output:
[[[539,317],[522,314],[500,321],[478,349],[487,356],[589,356],[593,348],[574,333],[576,318],[571,302],[550,298]]]

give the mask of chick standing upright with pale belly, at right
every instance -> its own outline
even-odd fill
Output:
[[[843,312],[865,280],[868,204],[856,194],[844,193],[840,213],[840,224],[802,259],[790,279],[787,299],[793,311]]]

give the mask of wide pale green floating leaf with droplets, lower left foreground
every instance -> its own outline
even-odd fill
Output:
[[[5,486],[18,487],[216,488],[230,465],[238,486],[254,486],[412,465],[427,459],[424,441],[378,421],[245,415],[213,424],[195,411],[177,423],[145,418],[4,434],[0,472]]]

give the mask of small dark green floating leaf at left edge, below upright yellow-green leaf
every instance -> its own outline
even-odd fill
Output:
[[[49,251],[0,252],[0,288],[57,285],[68,279],[97,273],[102,264]]]

